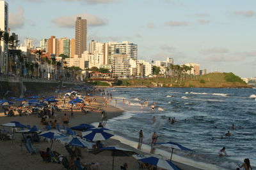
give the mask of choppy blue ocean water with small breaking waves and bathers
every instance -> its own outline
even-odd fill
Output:
[[[106,90],[113,95],[110,104],[115,106],[117,100],[117,107],[124,110],[124,115],[108,120],[106,126],[116,134],[138,141],[138,132],[142,129],[143,143],[150,145],[152,133],[156,131],[158,142],[173,141],[195,151],[174,150],[176,155],[227,169],[236,169],[245,158],[256,166],[256,89]],[[141,107],[144,101],[148,101],[148,106]],[[154,111],[150,108],[153,102],[156,103]],[[156,117],[154,124],[153,116]],[[175,117],[177,122],[170,124],[169,117]],[[231,132],[230,137],[225,137],[227,131]],[[221,136],[225,139],[220,139]],[[218,155],[223,146],[228,157]]]

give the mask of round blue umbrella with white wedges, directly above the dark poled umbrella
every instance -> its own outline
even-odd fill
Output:
[[[114,132],[104,127],[95,127],[82,132],[82,136],[90,141],[105,141],[114,136]]]

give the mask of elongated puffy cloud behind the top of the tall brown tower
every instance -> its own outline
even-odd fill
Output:
[[[82,17],[87,20],[87,24],[92,27],[107,25],[108,20],[97,17],[96,15],[91,15],[88,13],[77,13],[72,16],[61,16],[52,19],[52,23],[58,27],[74,28],[76,17]]]

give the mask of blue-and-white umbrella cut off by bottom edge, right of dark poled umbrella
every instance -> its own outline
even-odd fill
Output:
[[[132,155],[135,159],[151,164],[156,167],[161,167],[168,170],[179,170],[170,160],[165,160],[161,155]]]

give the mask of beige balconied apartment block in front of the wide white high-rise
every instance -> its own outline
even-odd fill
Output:
[[[122,78],[129,76],[129,60],[126,54],[115,53],[112,55],[112,72],[115,76]]]

